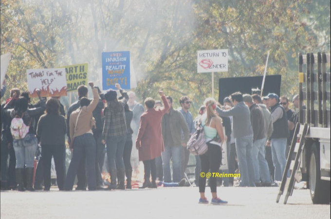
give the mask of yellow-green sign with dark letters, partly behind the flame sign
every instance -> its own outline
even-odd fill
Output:
[[[67,92],[77,91],[78,86],[88,83],[88,64],[63,66],[66,69]]]

